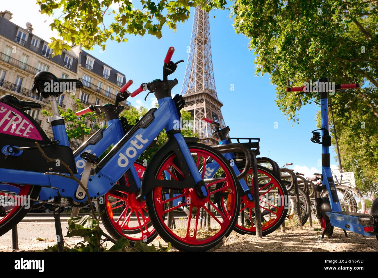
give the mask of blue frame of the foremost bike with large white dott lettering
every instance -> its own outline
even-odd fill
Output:
[[[158,100],[159,108],[151,109],[142,119],[145,126],[134,130],[132,134],[128,132],[122,138],[123,129],[118,119],[109,121],[109,126],[103,131],[101,140],[88,148],[83,149],[80,153],[75,154],[75,162],[78,169],[77,179],[81,179],[84,161],[81,161],[80,154],[84,151],[92,154],[101,154],[108,146],[115,144],[112,151],[109,152],[104,159],[98,164],[101,168],[96,169],[96,174],[90,176],[88,180],[88,191],[90,197],[98,197],[107,193],[113,185],[124,175],[124,173],[133,165],[135,160],[147,149],[149,144],[155,139],[161,130],[166,132],[174,129],[174,123],[179,121],[177,107],[171,97],[164,97]],[[147,117],[146,117],[147,116]],[[62,125],[64,126],[64,125]],[[176,127],[177,128],[177,127]],[[132,130],[130,130],[132,131]],[[66,144],[67,134],[61,128],[53,129],[55,140],[59,140]],[[180,147],[185,161],[192,174],[194,182],[197,184],[202,180],[200,173],[192,159],[187,144],[180,133],[173,134],[175,140]],[[65,142],[65,140],[67,142]],[[79,172],[80,171],[80,172]],[[138,174],[134,167],[130,169],[138,189],[141,187]],[[87,200],[77,199],[75,196],[77,190],[77,182],[67,179],[59,175],[48,175],[41,172],[21,171],[13,169],[0,168],[0,182],[39,185],[47,188],[56,188],[59,190],[60,196],[73,199],[75,202],[85,202]],[[40,198],[42,199],[42,197]]]

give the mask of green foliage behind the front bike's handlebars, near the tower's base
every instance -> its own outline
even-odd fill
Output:
[[[129,110],[124,110],[120,114],[120,116],[126,117],[127,122],[129,124],[135,125],[136,120],[139,120],[146,113],[147,113],[146,107],[141,106],[139,108],[136,108],[134,106],[131,106]],[[180,113],[181,113],[182,122],[184,123],[181,129],[181,134],[184,137],[198,137],[198,135],[193,133],[193,130],[192,130],[191,123],[193,122],[193,117],[191,113],[185,110],[181,110]],[[143,152],[143,154],[139,157],[139,159],[146,160],[147,162],[149,162],[151,158],[153,157],[153,155],[155,154],[155,152],[158,151],[158,149],[160,149],[161,146],[163,146],[167,140],[168,140],[168,137],[167,137],[166,132],[164,130],[161,131],[160,134],[158,135],[156,146],[146,149],[146,151]]]

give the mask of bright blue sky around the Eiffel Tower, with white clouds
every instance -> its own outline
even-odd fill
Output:
[[[37,35],[43,38],[46,38],[46,34],[50,35],[51,31],[47,30],[50,20],[44,22],[45,18],[37,13],[38,6],[30,5],[19,11],[20,2],[25,4],[21,0],[6,4],[5,8],[14,13],[12,21],[24,26],[27,20],[33,24]],[[142,82],[162,78],[164,56],[167,49],[173,46],[175,53],[172,60],[185,61],[171,75],[172,79],[177,78],[179,81],[172,94],[180,93],[188,55],[186,51],[191,38],[192,16],[194,9],[191,19],[178,24],[176,33],[164,27],[162,39],[149,35],[129,35],[127,43],[109,41],[103,53],[99,47],[89,52],[124,73],[126,79],[133,79],[134,86],[131,89],[136,89]],[[310,142],[311,130],[316,129],[318,107],[315,104],[302,107],[299,125],[294,123],[292,126],[276,106],[276,87],[270,84],[270,76],[254,75],[254,55],[253,51],[248,50],[249,40],[235,34],[229,11],[211,11],[210,29],[215,84],[218,98],[223,103],[223,118],[231,129],[231,137],[261,138],[260,155],[272,158],[280,166],[292,162],[294,169],[306,175],[320,170],[321,146]],[[231,84],[234,84],[234,91],[230,90]],[[152,107],[155,97],[149,95],[146,102],[144,97],[145,94],[141,93],[129,101],[135,106]],[[277,129],[274,128],[274,122],[278,123]],[[331,156],[335,156],[333,151]],[[331,163],[337,164],[334,160]]]

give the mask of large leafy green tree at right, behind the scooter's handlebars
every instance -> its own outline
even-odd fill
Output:
[[[235,31],[250,39],[256,75],[271,75],[289,120],[298,121],[301,107],[319,94],[298,97],[285,91],[288,84],[327,76],[363,85],[330,96],[343,168],[355,171],[363,189],[368,180],[378,185],[377,9],[377,0],[235,0],[231,14]]]

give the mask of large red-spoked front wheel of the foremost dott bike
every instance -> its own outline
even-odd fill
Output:
[[[158,187],[147,194],[147,208],[161,238],[179,250],[201,252],[217,248],[223,237],[231,233],[240,205],[239,190],[235,175],[222,155],[203,144],[188,143],[188,147],[208,188],[208,196],[200,199],[194,188]],[[215,180],[206,179],[212,161],[220,165]],[[176,155],[168,155],[155,177],[183,180],[183,171],[177,165]],[[222,194],[227,194],[228,200],[219,205],[215,198]]]

